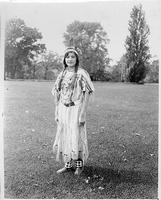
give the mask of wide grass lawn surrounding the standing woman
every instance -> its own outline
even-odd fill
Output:
[[[5,198],[157,198],[158,85],[94,83],[90,156],[81,176],[57,175],[52,82],[6,81]]]

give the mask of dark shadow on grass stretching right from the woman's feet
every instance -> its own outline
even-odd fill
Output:
[[[134,171],[134,170],[113,170],[108,168],[86,166],[82,173],[82,176],[86,177],[103,177],[104,182],[110,181],[120,183],[131,184],[157,184],[157,175],[152,175],[150,172]]]

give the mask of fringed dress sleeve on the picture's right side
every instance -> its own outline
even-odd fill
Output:
[[[81,78],[81,83],[82,83],[82,90],[84,92],[88,92],[89,94],[94,92],[94,86],[91,81],[91,78],[86,70],[81,70],[82,78]]]

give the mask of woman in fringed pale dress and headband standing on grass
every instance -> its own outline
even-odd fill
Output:
[[[64,70],[58,75],[52,94],[55,96],[57,133],[53,145],[56,160],[65,166],[57,173],[76,167],[80,175],[88,158],[86,109],[94,87],[89,74],[79,66],[78,52],[68,48],[64,55]]]

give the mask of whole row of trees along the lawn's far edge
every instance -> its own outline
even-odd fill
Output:
[[[125,41],[126,53],[110,65],[109,38],[100,23],[74,21],[64,33],[64,45],[74,46],[93,81],[158,82],[159,61],[150,62],[149,27],[142,6],[134,6],[129,20],[130,34]],[[5,79],[53,80],[62,70],[62,56],[48,51],[41,43],[42,34],[26,26],[22,19],[6,24]]]

